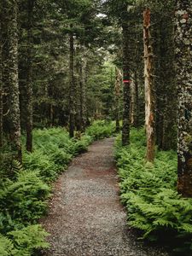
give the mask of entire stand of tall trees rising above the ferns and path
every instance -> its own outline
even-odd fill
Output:
[[[20,131],[32,152],[33,126],[73,137],[101,117],[117,131],[122,119],[126,146],[145,119],[153,162],[155,145],[177,148],[178,119],[177,187],[191,196],[191,0],[1,3],[0,147],[21,161]]]

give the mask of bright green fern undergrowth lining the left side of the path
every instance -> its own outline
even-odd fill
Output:
[[[23,150],[23,165],[11,160],[9,148],[0,152],[0,255],[38,255],[47,248],[48,234],[38,219],[47,210],[51,182],[72,158],[96,139],[113,135],[113,123],[96,121],[71,139],[63,128],[33,131],[33,152]],[[25,144],[25,137],[23,137]]]

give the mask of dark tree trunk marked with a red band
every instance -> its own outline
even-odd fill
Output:
[[[122,128],[122,145],[130,143],[130,63],[129,63],[129,27],[127,23],[123,24],[123,72],[124,72],[124,111],[123,111],[123,128]]]

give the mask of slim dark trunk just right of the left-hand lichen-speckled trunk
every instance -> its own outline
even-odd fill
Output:
[[[32,152],[32,20],[34,0],[28,0],[26,63],[26,150]]]

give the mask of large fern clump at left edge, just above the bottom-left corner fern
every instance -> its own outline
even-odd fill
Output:
[[[21,171],[15,182],[7,180],[0,190],[0,231],[4,233],[38,220],[46,209],[49,191],[38,172]]]

